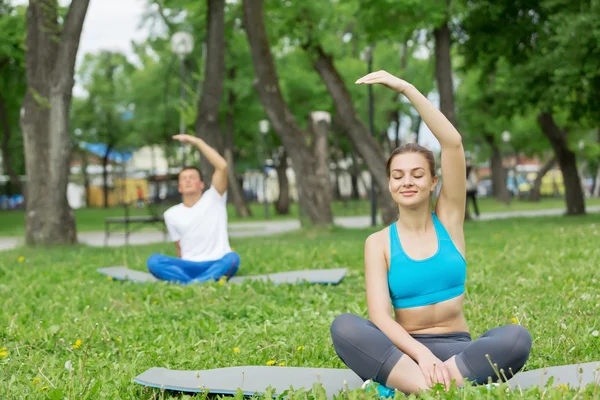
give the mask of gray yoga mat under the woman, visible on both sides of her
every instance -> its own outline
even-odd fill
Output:
[[[531,386],[545,386],[553,376],[552,386],[570,385],[573,388],[590,383],[600,385],[600,361],[585,364],[562,365],[519,372],[509,379],[512,388],[527,389]],[[581,370],[581,372],[580,372]],[[363,381],[349,369],[262,367],[243,366],[217,368],[200,371],[170,370],[150,368],[135,377],[141,385],[177,390],[200,392],[208,390],[215,394],[234,394],[241,389],[245,395],[264,394],[271,386],[276,395],[293,387],[294,390],[310,390],[315,383],[321,383],[327,398],[331,399],[340,390],[353,390],[362,386]]]

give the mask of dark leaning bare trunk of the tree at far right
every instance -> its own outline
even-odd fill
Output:
[[[551,113],[543,112],[538,115],[538,123],[544,135],[550,140],[552,149],[562,172],[565,185],[565,201],[567,215],[584,215],[585,200],[581,188],[581,180],[577,171],[575,153],[567,146],[566,130],[561,130]]]

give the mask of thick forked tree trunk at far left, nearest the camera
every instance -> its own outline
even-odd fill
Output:
[[[73,0],[59,25],[58,4],[30,0],[21,109],[27,196],[28,245],[77,241],[75,215],[67,200],[71,138],[69,110],[75,59],[89,0]]]

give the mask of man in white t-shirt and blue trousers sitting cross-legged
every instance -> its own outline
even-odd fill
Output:
[[[240,257],[231,250],[227,233],[227,162],[200,138],[175,135],[173,139],[198,147],[215,172],[206,191],[197,168],[186,167],[179,173],[182,202],[164,213],[178,257],[153,254],[148,270],[158,279],[185,284],[229,279],[239,269]]]

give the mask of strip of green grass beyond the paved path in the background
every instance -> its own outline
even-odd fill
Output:
[[[485,198],[478,199],[479,208],[482,213],[501,212],[501,211],[523,211],[523,210],[539,210],[549,208],[565,208],[563,199],[543,199],[539,203],[531,203],[527,201],[513,201],[510,205],[500,203],[494,199]],[[588,206],[600,205],[600,199],[587,199]],[[250,209],[252,216],[250,218],[240,218],[236,215],[235,207],[228,204],[228,215],[230,222],[260,222],[265,221],[264,206],[258,203],[251,203]],[[145,209],[130,209],[131,215],[148,215]],[[351,200],[348,202],[335,201],[332,205],[333,215],[335,217],[370,215],[371,205],[368,200]],[[88,208],[75,210],[77,231],[78,232],[93,232],[104,230],[104,219],[107,217],[122,217],[124,216],[123,208],[112,207],[104,208]],[[298,219],[298,205],[290,206],[289,215],[276,215],[275,207],[271,205],[269,208],[269,220],[278,221],[286,219]],[[23,236],[25,232],[25,214],[23,211],[0,211],[0,237],[2,236]],[[157,229],[152,227],[141,227],[143,229]],[[112,225],[112,230],[124,231],[124,226]]]

